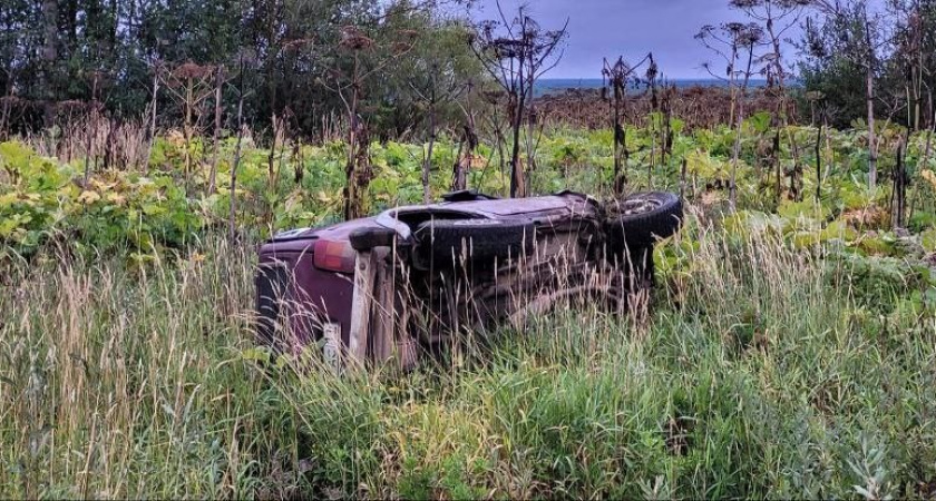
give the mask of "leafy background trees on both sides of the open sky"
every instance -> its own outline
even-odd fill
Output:
[[[786,87],[799,77],[803,89],[821,92],[832,126],[868,121],[869,101],[877,116],[914,129],[934,121],[936,0],[729,3],[743,16],[703,27],[699,37],[709,47],[725,42],[716,50],[733,67],[728,79],[738,77],[744,56],[738,49],[747,47],[763,78]],[[359,98],[382,134],[400,135],[426,118],[429,87],[472,79],[477,86],[491,77],[471,50],[472,37],[485,30],[470,9],[469,0],[6,0],[0,125],[20,131],[50,127],[69,105],[92,101],[114,117],[138,118],[157,106],[160,117],[178,119],[185,106],[172,92],[154,92],[191,84],[174,78],[175,69],[196,65],[216,80],[246,61],[257,81],[245,101],[247,121],[269,126],[272,117],[289,116],[312,132],[322,117],[343,108],[335,80],[355,63],[367,71],[393,59],[392,71],[359,82]],[[805,35],[791,40],[794,53],[783,53],[793,26]],[[349,29],[370,40],[367,52],[347,50]],[[721,68],[715,73],[725,77]],[[212,92],[212,82],[196,80],[205,87],[196,94]],[[234,102],[228,99],[225,109]],[[436,111],[456,107],[441,108]]]

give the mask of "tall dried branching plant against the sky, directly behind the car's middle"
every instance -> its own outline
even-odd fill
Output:
[[[527,163],[533,163],[533,131],[535,114],[530,112],[536,81],[562,59],[562,43],[566,39],[568,20],[558,30],[544,30],[528,14],[526,6],[517,9],[509,20],[500,6],[499,21],[484,21],[478,26],[471,47],[487,72],[507,95],[508,120],[511,130],[510,196],[527,194],[524,166],[520,160],[520,130],[527,124]]]

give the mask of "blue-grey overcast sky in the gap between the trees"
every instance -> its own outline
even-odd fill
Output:
[[[505,13],[519,0],[501,0]],[[728,0],[527,0],[546,29],[568,18],[568,42],[562,62],[546,78],[601,78],[602,57],[642,59],[653,52],[667,78],[706,78],[702,63],[723,62],[693,37],[704,24],[744,20]],[[479,0],[478,19],[497,19],[495,0]],[[508,18],[509,19],[509,18]]]

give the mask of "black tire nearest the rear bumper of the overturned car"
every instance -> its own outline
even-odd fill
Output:
[[[532,248],[536,226],[530,222],[499,219],[432,219],[419,225],[415,236],[422,261],[436,266],[468,261],[506,259]],[[466,248],[467,247],[467,248]]]

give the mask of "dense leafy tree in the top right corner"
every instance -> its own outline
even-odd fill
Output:
[[[914,129],[934,127],[936,1],[812,3],[798,69],[803,89],[822,94],[829,122],[849,127],[866,116],[870,71],[879,116]],[[801,105],[809,109],[806,100]]]

